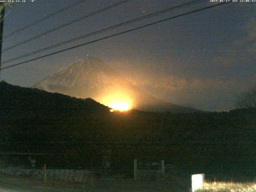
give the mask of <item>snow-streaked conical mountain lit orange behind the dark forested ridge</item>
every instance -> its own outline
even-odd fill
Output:
[[[110,100],[126,100],[133,109],[152,112],[198,112],[151,96],[122,78],[102,60],[86,57],[61,68],[30,86],[77,98],[93,98],[109,106]]]

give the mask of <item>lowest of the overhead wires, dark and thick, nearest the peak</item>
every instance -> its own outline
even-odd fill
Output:
[[[188,15],[188,14],[192,14],[192,13],[195,13],[195,12],[199,12],[199,11],[202,11],[202,10],[210,9],[210,8],[213,8],[213,7],[216,7],[216,6],[220,6],[220,5],[224,5],[224,4],[227,4],[227,3],[229,3],[229,2],[224,2],[224,3],[220,3],[220,4],[215,4],[215,5],[207,6],[207,7],[200,8],[200,9],[197,9],[197,10],[194,10],[194,11],[186,12],[186,13],[184,13],[184,14],[179,14],[179,15],[177,15],[177,16],[173,16],[173,17],[170,17],[170,18],[166,18],[166,19],[163,19],[163,20],[159,20],[159,21],[156,21],[156,22],[152,22],[152,23],[150,23],[150,24],[146,24],[146,25],[143,25],[143,26],[140,26],[140,27],[136,27],[136,28],[133,28],[133,29],[130,29],[130,30],[126,30],[126,31],[123,31],[123,32],[119,32],[119,33],[116,33],[116,34],[113,34],[113,35],[110,35],[110,36],[106,36],[106,37],[103,37],[103,38],[99,38],[99,39],[96,39],[96,40],[93,40],[93,41],[90,41],[90,42],[86,42],[86,43],[83,43],[83,44],[80,44],[80,45],[77,45],[77,46],[73,46],[73,47],[70,47],[70,48],[67,48],[67,49],[63,49],[63,50],[56,51],[56,52],[53,52],[53,53],[50,53],[50,54],[46,54],[46,55],[44,55],[44,56],[40,56],[40,57],[37,57],[37,58],[34,58],[34,59],[30,59],[30,60],[27,60],[27,61],[24,61],[24,62],[20,62],[20,63],[14,64],[14,65],[11,65],[11,66],[7,66],[7,67],[4,67],[4,68],[1,68],[0,70],[4,70],[4,69],[7,69],[7,68],[12,68],[12,67],[14,67],[14,66],[18,66],[18,65],[21,65],[21,64],[25,64],[25,63],[30,62],[30,61],[38,60],[38,59],[40,59],[40,58],[44,58],[44,57],[47,57],[47,56],[51,56],[51,55],[54,55],[54,54],[57,54],[57,53],[60,53],[60,52],[64,52],[64,51],[67,51],[67,50],[71,50],[71,49],[74,49],[74,48],[77,48],[77,47],[80,47],[80,46],[84,46],[84,45],[87,45],[87,44],[91,44],[91,43],[94,43],[94,42],[98,42],[98,41],[100,41],[100,40],[104,40],[104,39],[107,39],[107,38],[110,38],[110,37],[114,37],[114,36],[118,36],[118,35],[121,35],[121,34],[125,34],[125,33],[128,33],[128,32],[132,32],[132,31],[135,31],[135,30],[144,28],[144,27],[152,26],[152,25],[154,25],[154,24],[158,24],[158,23],[161,23],[161,22],[164,22],[164,21],[167,21],[167,20],[171,20],[171,19],[174,19],[174,18],[178,18],[178,17],[181,17],[181,16],[185,16],[185,15]]]

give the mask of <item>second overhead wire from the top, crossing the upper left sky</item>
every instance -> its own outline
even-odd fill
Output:
[[[65,27],[65,26],[68,26],[68,25],[70,25],[70,24],[73,24],[73,23],[75,23],[75,22],[78,22],[78,21],[80,21],[80,20],[82,20],[82,19],[88,18],[88,17],[90,17],[90,16],[92,16],[92,15],[98,14],[98,13],[100,13],[100,12],[103,12],[103,11],[105,11],[105,10],[108,10],[108,9],[110,9],[110,8],[113,8],[113,7],[115,7],[115,6],[118,6],[118,5],[120,5],[120,4],[126,3],[126,2],[128,2],[128,1],[130,1],[130,0],[123,0],[123,1],[117,2],[117,3],[115,3],[115,4],[112,4],[112,5],[110,5],[110,6],[104,7],[104,8],[102,8],[102,9],[100,9],[100,10],[95,11],[95,12],[92,12],[92,13],[90,13],[90,14],[86,14],[86,15],[84,15],[84,16],[78,18],[78,19],[72,20],[72,21],[70,21],[70,22],[68,22],[68,23],[66,23],[66,24],[62,24],[61,26],[58,26],[58,27],[53,28],[53,29],[50,29],[50,30],[48,30],[48,31],[46,31],[46,32],[43,32],[43,33],[37,35],[37,36],[34,36],[34,37],[29,38],[29,39],[27,39],[27,40],[24,40],[24,41],[22,41],[22,42],[20,42],[20,43],[18,43],[18,44],[12,45],[12,46],[10,46],[10,47],[4,49],[2,52],[6,52],[6,51],[8,51],[8,50],[10,50],[10,49],[12,49],[12,48],[15,48],[15,47],[20,46],[20,45],[22,45],[22,44],[24,44],[24,43],[30,42],[30,41],[32,41],[32,40],[34,40],[34,39],[36,39],[36,38],[39,38],[39,37],[41,37],[41,36],[44,36],[44,35],[46,35],[46,34],[48,34],[48,33],[50,33],[50,32],[54,32],[54,31],[56,31],[56,30],[58,30],[58,29],[61,29],[61,28]]]

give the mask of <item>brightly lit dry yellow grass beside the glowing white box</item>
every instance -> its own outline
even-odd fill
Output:
[[[204,182],[197,192],[256,192],[255,182]]]

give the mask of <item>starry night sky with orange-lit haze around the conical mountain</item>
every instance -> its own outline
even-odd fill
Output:
[[[4,35],[76,1],[35,0],[32,3],[27,0],[26,3],[6,8]],[[118,0],[87,0],[4,39],[3,49],[114,2]],[[189,1],[130,0],[6,51],[2,54],[2,61],[184,2]],[[206,1],[28,58],[209,5],[213,4]],[[2,70],[1,80],[30,86],[88,54],[102,59],[145,92],[168,102],[201,110],[230,110],[234,108],[235,96],[256,83],[255,12],[256,3],[238,2],[218,6]],[[2,67],[28,58],[2,64]]]

